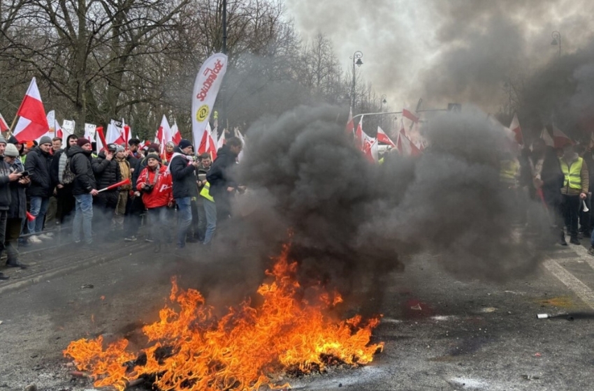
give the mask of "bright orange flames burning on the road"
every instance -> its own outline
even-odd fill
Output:
[[[178,305],[159,312],[160,320],[143,327],[149,346],[142,354],[126,351],[121,339],[103,348],[103,339],[73,341],[64,351],[79,370],[89,371],[94,385],[124,390],[144,376],[161,390],[258,390],[275,385],[283,371],[309,373],[331,362],[367,364],[383,343],[369,344],[379,318],[338,320],[328,309],[342,302],[338,293],[321,287],[314,299],[303,298],[296,281],[297,263],[287,258],[289,246],[267,270],[269,283],[249,301],[218,319],[197,290],[179,290],[172,279],[170,300]],[[309,295],[308,295],[309,297]]]

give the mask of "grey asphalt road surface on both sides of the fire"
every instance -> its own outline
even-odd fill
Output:
[[[96,257],[71,251],[63,256],[69,263]],[[213,267],[200,256],[175,258],[171,249],[155,255],[150,244],[117,245],[108,254],[47,279],[41,272],[22,288],[2,291],[0,283],[0,390],[31,383],[48,391],[92,389],[68,376],[72,368],[61,357],[68,342],[131,334],[156,318],[171,275],[183,270],[187,285],[193,273]],[[593,389],[594,257],[584,246],[558,247],[529,279],[503,284],[457,281],[429,255],[383,283],[375,339],[385,342],[384,352],[367,367],[289,379],[294,388]],[[536,318],[565,312],[581,318]]]

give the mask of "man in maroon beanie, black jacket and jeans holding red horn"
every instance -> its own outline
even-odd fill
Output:
[[[91,167],[91,142],[79,138],[76,145],[68,149],[71,158],[71,170],[76,175],[72,186],[75,199],[75,214],[72,236],[75,243],[80,243],[80,231],[87,246],[92,246],[93,196],[99,194]]]

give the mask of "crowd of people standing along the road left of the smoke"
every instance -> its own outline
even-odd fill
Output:
[[[73,242],[93,251],[98,242],[138,240],[142,225],[155,252],[169,242],[180,254],[188,242],[209,246],[231,216],[231,198],[245,191],[233,180],[241,149],[239,138],[229,138],[213,162],[185,139],[163,149],[131,139],[95,154],[94,143],[76,135],[64,147],[60,138],[0,136],[0,255],[6,251],[8,267],[26,268],[19,246],[70,226]]]

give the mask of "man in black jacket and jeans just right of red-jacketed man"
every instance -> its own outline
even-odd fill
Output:
[[[171,159],[169,170],[173,178],[173,198],[178,204],[178,249],[186,245],[186,233],[191,225],[191,198],[198,196],[196,188],[196,168],[198,162],[191,157],[192,145],[189,140],[180,140],[178,154]]]

